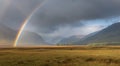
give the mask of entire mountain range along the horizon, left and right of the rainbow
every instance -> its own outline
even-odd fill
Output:
[[[4,24],[0,24],[0,46],[13,45],[17,31]],[[48,45],[37,33],[24,31],[18,42],[20,45]],[[114,23],[107,28],[91,33],[87,36],[75,35],[62,39],[60,45],[88,45],[88,44],[120,44],[120,22]]]

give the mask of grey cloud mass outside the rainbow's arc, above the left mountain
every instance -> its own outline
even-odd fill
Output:
[[[43,0],[1,0],[0,23],[19,29],[22,22]]]

